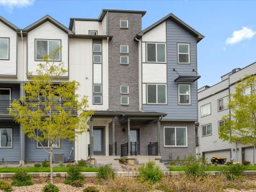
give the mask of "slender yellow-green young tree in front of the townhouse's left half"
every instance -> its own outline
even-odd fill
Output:
[[[87,97],[76,94],[79,83],[54,83],[67,73],[63,63],[54,63],[58,51],[60,49],[44,56],[44,62],[38,65],[36,76],[31,76],[31,82],[24,84],[25,95],[13,101],[9,109],[15,122],[22,126],[22,132],[38,142],[49,154],[52,184],[54,148],[60,145],[60,140],[75,141],[77,134],[86,131],[86,121],[93,113],[86,110]]]

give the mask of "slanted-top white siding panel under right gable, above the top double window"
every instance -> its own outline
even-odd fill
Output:
[[[143,42],[166,42],[166,22],[142,36]]]

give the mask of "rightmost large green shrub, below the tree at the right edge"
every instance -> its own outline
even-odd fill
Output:
[[[241,177],[242,173],[244,172],[245,167],[242,164],[234,164],[230,166],[226,166],[222,173],[228,180],[236,180]]]

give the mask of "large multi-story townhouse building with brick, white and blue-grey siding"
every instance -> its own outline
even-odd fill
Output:
[[[49,159],[6,108],[24,95],[27,72],[35,74],[44,54],[58,46],[55,61],[68,70],[60,81],[78,81],[77,93],[88,95],[95,110],[87,132],[74,143],[60,141],[58,157],[67,160],[72,148],[74,160],[93,163],[195,154],[196,45],[204,36],[172,13],[141,31],[145,13],[102,10],[99,19],[70,19],[69,28],[49,15],[25,29],[0,17],[0,131],[7,143],[0,145],[0,161]]]

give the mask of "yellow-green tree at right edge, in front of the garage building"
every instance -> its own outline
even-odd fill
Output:
[[[246,76],[236,84],[236,92],[230,94],[228,108],[231,114],[223,116],[225,124],[219,136],[224,141],[253,146],[253,164],[256,147],[256,76]]]

